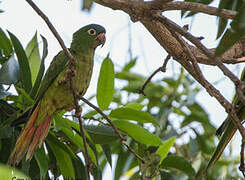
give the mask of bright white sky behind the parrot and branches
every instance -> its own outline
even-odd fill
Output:
[[[123,66],[128,62],[129,16],[122,11],[115,11],[96,4],[91,13],[84,13],[81,12],[80,0],[42,0],[34,2],[49,17],[68,47],[72,34],[80,27],[90,23],[97,23],[106,28],[107,42],[103,48],[97,48],[96,50],[94,73],[86,97],[95,94],[101,61],[109,52],[114,64]],[[213,5],[217,6],[217,3]],[[49,51],[48,58],[46,59],[46,65],[48,66],[61,48],[44,21],[24,0],[3,0],[0,4],[0,9],[5,10],[4,13],[0,14],[0,27],[3,30],[9,30],[14,33],[24,47],[26,47],[36,31],[46,37]],[[215,41],[217,20],[214,16],[200,14],[195,17],[194,21],[191,21],[190,18],[181,20],[178,11],[165,12],[164,15],[180,26],[190,24],[191,33],[195,36],[205,37],[202,42],[207,47],[215,47],[217,44]],[[162,64],[163,59],[167,55],[166,51],[142,24],[132,23],[131,28],[133,57],[138,57],[137,65],[133,71],[149,76]],[[178,72],[179,66],[177,62],[173,61],[168,64],[167,72],[165,74],[160,73],[155,79],[171,76],[173,74],[172,64],[174,64],[175,72]],[[235,74],[238,74],[244,65],[240,65],[240,68],[234,65],[229,67]],[[215,82],[223,77],[222,72],[215,67],[201,65],[201,68],[205,73],[205,77],[210,82]],[[229,80],[222,79],[216,87],[221,90],[228,100],[232,99],[234,88]],[[197,98],[209,113],[213,124],[219,126],[226,117],[226,113],[221,105],[214,98],[211,98],[206,91],[199,93]],[[239,144],[237,145],[239,146]],[[239,150],[240,146],[234,149]]]

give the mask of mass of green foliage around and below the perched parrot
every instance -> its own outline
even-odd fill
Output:
[[[6,163],[23,127],[10,127],[10,124],[15,119],[23,122],[28,118],[27,112],[34,103],[33,98],[44,75],[47,41],[42,37],[43,53],[40,57],[37,34],[25,50],[13,33],[9,32],[9,39],[0,29],[0,36],[0,74],[5,75],[0,78],[0,162]],[[102,179],[108,163],[111,167],[115,165],[114,179],[122,176],[139,179],[140,174],[144,178],[200,179],[216,140],[215,128],[208,114],[195,100],[200,89],[181,69],[173,77],[150,82],[145,89],[146,97],[139,95],[146,78],[133,73],[136,62],[136,59],[128,62],[115,73],[111,59],[106,57],[100,70],[96,99],[126,138],[127,144],[145,163],[120,143],[100,114],[89,109],[83,117],[93,164],[90,169],[92,176]],[[8,63],[13,63],[15,70],[4,68]],[[114,88],[114,80],[123,87]],[[101,90],[106,91],[105,94]],[[34,158],[30,162],[23,159],[17,166],[32,179],[47,179],[48,170],[55,178],[62,175],[64,178],[86,179],[79,124],[76,119],[64,115],[64,111],[55,115],[45,145],[35,152]],[[239,174],[234,171],[238,163],[237,158],[223,156],[209,171],[207,179],[238,178]]]

